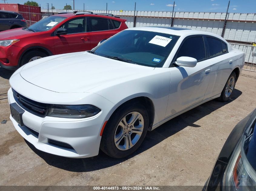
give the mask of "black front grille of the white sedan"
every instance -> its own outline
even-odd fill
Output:
[[[34,115],[45,117],[48,110],[48,104],[39,103],[37,101],[33,101],[28,99],[27,97],[22,96],[17,91],[12,89],[13,96],[15,101],[22,107],[24,110],[33,113]]]

